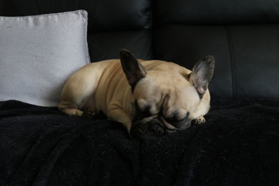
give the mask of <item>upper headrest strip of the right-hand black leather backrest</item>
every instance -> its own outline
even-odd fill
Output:
[[[278,23],[277,0],[154,0],[156,24]]]

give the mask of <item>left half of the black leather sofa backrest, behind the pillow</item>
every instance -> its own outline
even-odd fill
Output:
[[[92,62],[119,58],[121,48],[142,59],[153,58],[150,0],[3,0],[1,7],[0,15],[6,16],[86,10]]]

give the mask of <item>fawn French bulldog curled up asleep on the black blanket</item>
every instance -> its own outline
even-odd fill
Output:
[[[166,61],[119,59],[90,63],[69,77],[59,109],[69,116],[103,112],[122,123],[131,137],[160,136],[205,123],[215,60],[206,56],[193,70]]]

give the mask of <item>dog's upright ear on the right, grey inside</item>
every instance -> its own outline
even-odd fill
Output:
[[[206,56],[198,61],[190,75],[189,82],[195,86],[199,95],[204,95],[213,76],[215,59],[213,56]]]

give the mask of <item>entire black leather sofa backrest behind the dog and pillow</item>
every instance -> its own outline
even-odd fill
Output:
[[[193,68],[216,58],[213,98],[279,100],[279,0],[0,1],[0,15],[84,9],[91,61],[115,59],[126,48],[140,59]]]

